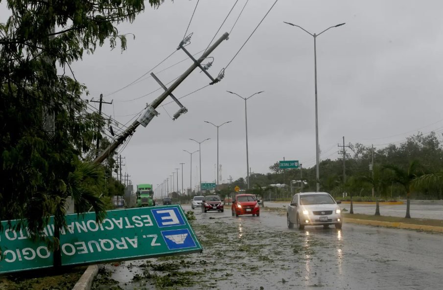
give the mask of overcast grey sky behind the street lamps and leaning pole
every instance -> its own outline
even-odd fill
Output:
[[[134,33],[128,49],[98,48],[74,64],[76,78],[97,99],[124,87],[158,64],[178,46],[197,0],[166,0],[159,9],[147,7],[133,24],[119,26],[120,33]],[[235,0],[200,0],[188,33],[187,49],[205,49]],[[250,0],[228,41],[211,54],[210,73],[216,76],[254,30],[274,0]],[[220,30],[230,31],[245,0],[239,0]],[[2,8],[4,10],[4,6]],[[249,42],[227,68],[218,84],[182,99],[189,112],[172,121],[178,106],[158,108],[161,113],[148,127],[139,127],[121,155],[124,172],[133,184],[155,186],[184,165],[184,185],[189,186],[189,155],[198,150],[188,140],[211,138],[202,144],[202,181],[215,179],[216,129],[204,121],[226,124],[220,128],[219,158],[222,179],[246,176],[244,101],[242,96],[265,92],[248,100],[249,164],[252,172],[266,173],[285,157],[303,167],[315,165],[315,107],[313,38],[304,29],[321,32],[317,38],[319,143],[321,159],[337,158],[337,143],[360,142],[376,147],[432,130],[442,131],[442,28],[443,1],[407,0],[279,0]],[[159,72],[183,59],[177,51]],[[167,83],[191,64],[187,60],[157,76]],[[149,76],[149,74],[147,75]],[[209,83],[195,70],[174,91],[181,97]],[[139,98],[159,88],[152,78],[107,96],[114,105],[103,112],[125,124],[161,92]],[[139,98],[137,100],[132,100]],[[129,101],[132,100],[132,101]],[[168,97],[166,101],[170,101]],[[98,106],[97,106],[98,108]],[[385,145],[378,145],[385,144]],[[120,148],[121,149],[121,148]],[[192,183],[198,183],[198,153],[192,160]],[[181,177],[181,172],[179,171]],[[181,187],[181,178],[180,178]],[[176,183],[176,181],[175,181]]]

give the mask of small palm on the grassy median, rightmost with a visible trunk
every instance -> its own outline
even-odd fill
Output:
[[[411,205],[411,188],[412,182],[415,178],[422,175],[419,172],[419,162],[417,160],[411,161],[407,169],[403,169],[394,164],[389,164],[384,166],[385,169],[390,169],[394,172],[393,181],[403,185],[406,190],[406,219],[410,219],[411,215],[409,213],[410,205]]]

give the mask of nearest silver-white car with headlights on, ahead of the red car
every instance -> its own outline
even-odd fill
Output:
[[[289,228],[297,224],[298,229],[305,225],[323,225],[325,228],[334,224],[335,228],[342,228],[341,201],[335,201],[326,192],[302,192],[294,195],[288,205],[286,214]]]

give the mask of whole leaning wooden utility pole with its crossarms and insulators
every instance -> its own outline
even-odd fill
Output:
[[[177,49],[182,49],[183,51],[185,51],[185,53],[193,60],[193,64],[169,88],[166,89],[165,86],[162,86],[163,89],[165,89],[165,91],[157,99],[155,99],[150,105],[146,104],[147,106],[146,106],[144,112],[142,112],[140,114],[139,118],[137,118],[137,120],[135,120],[131,125],[129,125],[128,129],[126,129],[122,134],[120,134],[117,137],[117,139],[108,146],[108,148],[106,148],[99,156],[97,156],[94,159],[93,162],[94,163],[103,162],[103,160],[105,160],[106,157],[111,154],[111,152],[114,152],[116,150],[116,148],[119,145],[121,145],[124,142],[124,140],[126,140],[127,137],[134,134],[134,132],[136,131],[137,127],[140,124],[143,127],[146,127],[155,116],[159,115],[159,112],[157,112],[155,109],[161,105],[161,103],[164,101],[164,99],[168,95],[172,94],[172,91],[174,89],[176,89],[195,68],[200,67],[202,69],[202,71],[210,77],[210,79],[211,79],[210,85],[219,82],[224,77],[224,70],[222,70],[222,72],[220,72],[219,75],[214,79],[210,76],[210,74],[207,71],[207,69],[212,65],[212,63],[208,63],[205,66],[202,66],[201,63],[210,55],[210,53],[218,45],[220,45],[222,43],[222,41],[227,40],[228,36],[229,36],[229,33],[225,32],[213,45],[211,45],[202,54],[202,56],[198,60],[194,59],[192,57],[192,55],[185,48],[186,44],[190,42],[191,35],[188,35],[185,39],[183,39],[180,42]],[[158,80],[158,79],[156,78],[156,80]],[[158,80],[158,82],[160,84],[160,80]],[[174,98],[175,97],[173,97],[173,99]],[[182,113],[186,113],[186,112],[187,112],[187,109],[185,107],[181,106],[179,111],[174,114],[174,119],[177,119]]]

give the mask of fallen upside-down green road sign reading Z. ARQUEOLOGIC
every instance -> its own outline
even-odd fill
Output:
[[[111,210],[100,224],[95,213],[71,214],[66,222],[60,234],[62,266],[202,251],[180,205]],[[6,230],[0,233],[0,273],[53,266],[53,253],[44,242],[32,242],[25,230],[1,223]],[[53,233],[51,219],[42,234]]]

